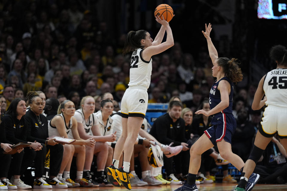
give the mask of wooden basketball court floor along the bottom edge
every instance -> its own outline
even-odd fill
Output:
[[[199,191],[232,191],[236,184],[200,184],[198,185]],[[167,186],[144,186],[144,187],[132,187],[132,190],[138,191],[173,191],[178,188],[179,185],[167,185]],[[30,189],[28,189],[30,190]],[[34,191],[51,191],[51,189],[33,189]],[[91,190],[127,190],[125,187],[96,187],[96,188],[67,188],[67,189],[53,189],[53,191],[91,191]],[[272,191],[287,191],[287,184],[257,184],[253,190],[272,190]],[[25,190],[21,190],[25,191]]]

